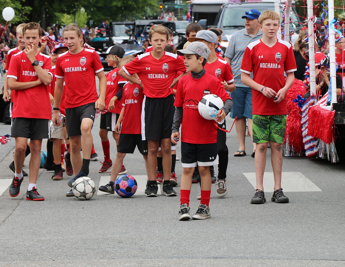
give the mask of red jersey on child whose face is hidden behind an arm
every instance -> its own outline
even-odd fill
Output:
[[[124,118],[121,125],[121,134],[141,134],[141,107],[144,94],[137,84],[126,83],[122,93]]]

